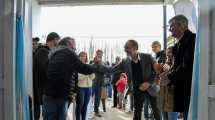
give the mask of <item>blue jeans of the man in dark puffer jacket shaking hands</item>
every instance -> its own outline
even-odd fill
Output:
[[[68,100],[65,98],[54,98],[43,96],[44,120],[66,120],[68,111]]]

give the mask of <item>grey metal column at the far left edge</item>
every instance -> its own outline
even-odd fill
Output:
[[[15,13],[16,0],[0,1],[0,40],[2,60],[1,120],[16,120],[15,102]],[[1,104],[1,103],[0,103]]]

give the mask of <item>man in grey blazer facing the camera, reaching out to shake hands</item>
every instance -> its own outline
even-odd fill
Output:
[[[128,40],[124,46],[128,58],[112,68],[103,67],[104,72],[116,73],[123,71],[128,77],[128,84],[133,86],[134,117],[133,120],[141,120],[145,96],[149,96],[153,115],[156,120],[161,120],[160,111],[157,108],[155,86],[155,60],[151,55],[138,52],[138,43]],[[101,66],[102,67],[102,66]],[[102,70],[102,69],[100,69]]]

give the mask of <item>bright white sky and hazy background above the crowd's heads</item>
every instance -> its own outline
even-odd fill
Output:
[[[167,6],[167,19],[173,15],[172,6]],[[105,61],[125,57],[128,39],[137,40],[139,50],[150,54],[152,41],[163,43],[163,5],[42,6],[38,21],[40,30],[33,37],[42,43],[51,31],[74,37],[77,51],[87,51],[90,59],[96,49],[105,52]]]

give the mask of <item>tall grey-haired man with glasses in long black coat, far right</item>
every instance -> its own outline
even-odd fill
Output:
[[[196,35],[188,30],[188,19],[183,15],[177,15],[170,19],[170,32],[178,42],[173,48],[173,67],[170,74],[162,74],[161,82],[174,85],[174,111],[182,112],[184,120],[187,120],[193,59]]]

